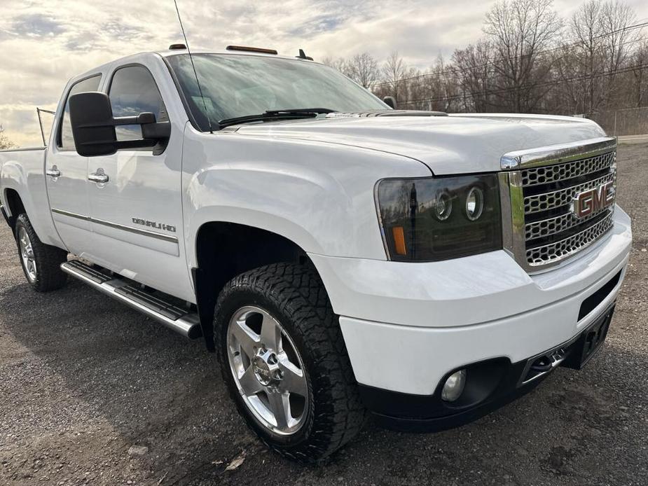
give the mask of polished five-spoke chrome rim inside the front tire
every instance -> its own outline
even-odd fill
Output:
[[[234,312],[227,352],[237,389],[254,417],[270,431],[296,433],[310,399],[301,356],[281,324],[260,307]]]

